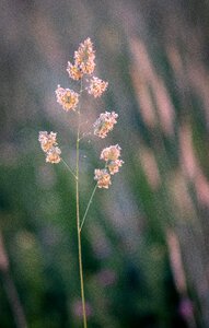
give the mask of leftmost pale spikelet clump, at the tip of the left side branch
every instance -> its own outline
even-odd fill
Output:
[[[57,147],[57,133],[39,131],[38,141],[42,150],[46,153],[46,162],[57,164],[60,162],[61,150]]]

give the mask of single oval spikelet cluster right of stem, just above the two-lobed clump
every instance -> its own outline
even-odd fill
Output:
[[[105,138],[109,131],[113,130],[114,125],[116,125],[116,118],[118,115],[115,112],[105,112],[100,115],[100,117],[94,122],[94,134],[100,138]]]

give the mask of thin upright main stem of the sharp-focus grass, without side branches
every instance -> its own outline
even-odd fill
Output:
[[[82,93],[82,79],[81,79],[81,90]],[[80,284],[81,284],[81,298],[82,298],[82,309],[83,309],[83,327],[88,327],[86,314],[85,314],[85,296],[84,296],[84,283],[83,283],[83,267],[82,267],[82,249],[81,249],[81,233],[80,233],[80,201],[79,201],[79,141],[80,141],[80,108],[81,99],[78,110],[78,132],[77,132],[77,180],[76,180],[76,196],[77,196],[77,232],[78,232],[78,247],[79,247],[79,272],[80,272]]]

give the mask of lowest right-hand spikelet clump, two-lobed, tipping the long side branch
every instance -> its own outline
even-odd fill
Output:
[[[94,171],[94,179],[97,180],[98,188],[108,189],[112,184],[111,175],[119,172],[119,167],[124,164],[124,161],[119,160],[120,150],[118,144],[103,149],[101,160],[105,161],[105,168]]]

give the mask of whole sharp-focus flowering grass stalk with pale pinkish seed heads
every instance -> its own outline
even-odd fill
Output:
[[[56,96],[57,102],[61,105],[66,112],[76,112],[78,115],[78,127],[77,127],[77,159],[76,159],[76,173],[66,163],[66,161],[60,156],[61,150],[57,143],[57,133],[40,131],[39,142],[42,150],[46,153],[46,162],[58,164],[62,162],[68,168],[70,174],[76,179],[76,202],[77,202],[77,234],[78,234],[78,257],[79,257],[79,272],[80,272],[80,289],[82,298],[82,313],[83,313],[83,327],[88,327],[86,321],[86,311],[85,311],[85,296],[84,296],[84,279],[83,279],[83,267],[82,267],[82,247],[81,247],[81,231],[85,222],[90,206],[92,203],[93,197],[97,188],[108,189],[112,185],[112,175],[119,171],[123,165],[123,161],[119,160],[120,147],[118,144],[105,148],[101,153],[101,160],[105,162],[104,168],[96,168],[94,171],[94,179],[96,184],[86,204],[86,209],[80,220],[80,141],[86,136],[81,136],[81,99],[83,91],[86,91],[89,95],[93,97],[101,97],[106,91],[108,82],[105,82],[96,77],[92,77],[95,68],[95,51],[93,49],[93,44],[90,38],[85,39],[80,44],[79,49],[74,51],[74,63],[68,62],[67,72],[70,79],[74,81],[80,81],[80,92],[77,93],[70,89],[63,89],[60,85],[57,86]],[[90,75],[91,79],[85,79],[85,75]],[[89,83],[89,85],[83,89],[83,82]],[[115,112],[105,112],[100,115],[97,120],[93,124],[94,136],[104,139],[107,137],[108,132],[113,130],[114,125],[117,124],[118,115]],[[88,133],[89,134],[89,133]]]

